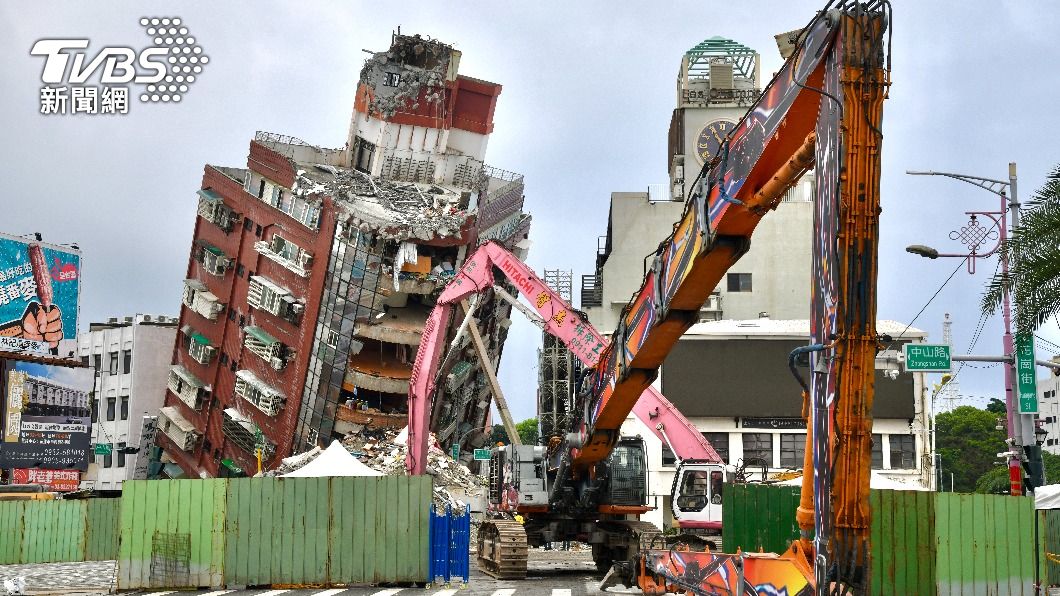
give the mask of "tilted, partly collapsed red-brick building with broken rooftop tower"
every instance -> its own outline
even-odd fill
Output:
[[[180,474],[238,475],[259,454],[271,467],[349,431],[404,426],[438,293],[478,243],[525,249],[523,176],[482,161],[500,85],[459,63],[445,43],[394,35],[366,60],[343,147],[259,133],[246,169],[207,166],[158,419]],[[476,313],[491,366],[510,309],[487,294]],[[488,438],[479,366],[467,355],[441,371],[431,428],[444,444]]]

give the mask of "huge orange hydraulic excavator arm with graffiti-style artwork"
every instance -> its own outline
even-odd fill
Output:
[[[759,221],[815,165],[811,318],[812,343],[819,349],[813,352],[817,372],[807,396],[814,473],[812,486],[803,486],[798,516],[807,540],[774,562],[752,565],[748,558],[741,563],[744,581],[750,583],[739,593],[757,593],[755,586],[765,584],[784,585],[790,594],[812,590],[811,584],[818,593],[829,585],[867,591],[872,380],[879,346],[880,128],[889,84],[889,13],[886,0],[841,0],[802,30],[795,53],[704,166],[682,220],[659,245],[594,370],[580,443],[570,444],[565,454],[576,474],[607,456],[634,402],[719,280],[748,249]],[[682,577],[675,560],[704,558],[687,567],[702,571],[707,563],[718,568],[728,564],[721,557],[728,556],[653,553],[644,560],[646,574],[666,579],[664,588],[672,580],[688,589],[692,578]],[[721,581],[702,574],[700,580],[703,585]],[[650,593],[659,586],[642,582],[641,588]]]

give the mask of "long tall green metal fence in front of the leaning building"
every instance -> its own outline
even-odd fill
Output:
[[[428,476],[126,481],[118,588],[424,582],[431,490]]]

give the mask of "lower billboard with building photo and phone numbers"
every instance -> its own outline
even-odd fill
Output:
[[[0,468],[88,469],[90,368],[8,361]]]

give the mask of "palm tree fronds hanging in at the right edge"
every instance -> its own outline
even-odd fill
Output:
[[[991,314],[1011,293],[1019,333],[1032,332],[1060,314],[1060,165],[1026,207],[1019,229],[1002,245],[1009,270],[994,274],[982,303],[983,312]]]

